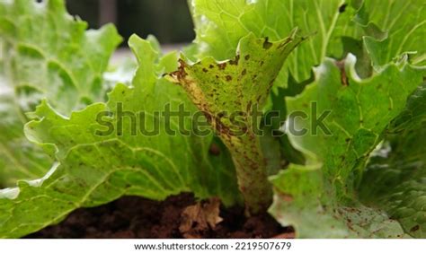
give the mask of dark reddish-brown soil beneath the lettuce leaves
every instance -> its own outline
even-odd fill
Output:
[[[171,196],[162,202],[137,196],[124,196],[107,205],[82,208],[57,225],[27,238],[44,239],[181,239],[182,212],[194,205],[191,194]],[[271,215],[246,218],[242,208],[220,207],[222,222],[215,228],[198,231],[200,238],[291,238],[291,228],[283,228]]]

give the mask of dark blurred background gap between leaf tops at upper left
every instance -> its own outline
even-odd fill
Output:
[[[187,43],[195,36],[187,0],[67,0],[67,9],[90,28],[113,22],[124,41],[133,33],[154,34],[162,44]]]

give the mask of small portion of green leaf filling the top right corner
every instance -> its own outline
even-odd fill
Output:
[[[376,70],[404,53],[415,53],[413,64],[426,64],[425,15],[424,0],[364,1],[356,21],[367,30],[363,40]],[[377,38],[377,33],[371,33],[374,27],[386,31],[386,36]]]

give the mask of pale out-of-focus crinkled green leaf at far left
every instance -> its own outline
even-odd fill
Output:
[[[102,73],[121,39],[112,25],[86,28],[63,0],[0,2],[0,185],[38,179],[53,164],[24,137],[25,112],[43,98],[65,115],[104,100]]]

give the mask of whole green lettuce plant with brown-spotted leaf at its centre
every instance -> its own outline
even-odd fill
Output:
[[[0,237],[181,192],[268,210],[300,238],[424,237],[423,2],[189,1],[194,42],[163,55],[132,36],[132,81],[111,88],[113,26],[85,31],[63,0],[0,1]],[[186,135],[191,117],[165,106],[213,131]],[[141,112],[175,134],[135,131]]]

